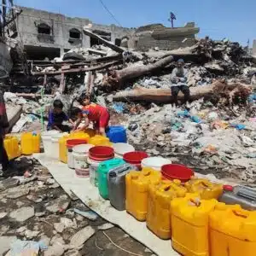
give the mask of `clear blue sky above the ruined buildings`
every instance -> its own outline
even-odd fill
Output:
[[[256,39],[255,0],[102,0],[122,26],[136,27],[150,23],[170,26],[172,11],[175,26],[195,21],[201,27],[199,37],[229,38],[241,44]],[[89,18],[95,23],[116,24],[100,0],[15,0],[15,4],[44,9],[71,17]]]

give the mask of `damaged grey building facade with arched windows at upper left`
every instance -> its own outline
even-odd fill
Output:
[[[19,9],[22,9],[22,13],[17,19],[17,39],[22,41],[26,57],[31,60],[53,59],[70,49],[99,44],[96,39],[84,35],[84,26],[117,45],[131,32],[129,28],[98,25],[89,19],[71,18],[26,7]]]

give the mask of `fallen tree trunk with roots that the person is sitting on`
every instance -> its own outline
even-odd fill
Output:
[[[244,96],[247,99],[250,89],[247,84],[225,84],[217,81],[213,84],[190,88],[190,99],[195,101],[203,97],[218,95],[225,97],[226,103],[231,104],[236,96]],[[183,93],[179,92],[177,98],[178,100],[183,100]],[[173,97],[171,89],[144,89],[143,87],[138,87],[134,90],[118,92],[113,96],[113,100],[172,103]]]

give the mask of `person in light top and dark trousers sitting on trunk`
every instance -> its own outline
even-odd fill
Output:
[[[172,81],[172,97],[173,97],[173,102],[177,106],[177,95],[178,92],[181,90],[184,95],[184,103],[189,102],[190,98],[190,91],[189,91],[189,86],[187,85],[187,76],[188,76],[188,71],[186,68],[184,68],[185,62],[183,59],[179,59],[177,61],[177,67],[175,67],[172,70],[172,75],[171,75],[171,81]]]

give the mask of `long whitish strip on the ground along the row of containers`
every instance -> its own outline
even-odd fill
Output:
[[[52,160],[44,154],[34,154],[41,165],[48,168],[56,182],[67,192],[77,195],[81,201],[91,210],[112,224],[118,225],[127,234],[140,241],[159,256],[177,256],[171,246],[171,241],[164,241],[154,236],[145,222],[139,222],[131,215],[119,212],[111,207],[109,201],[105,201],[98,193],[98,189],[90,184],[89,178],[76,177],[74,170],[57,160]]]

